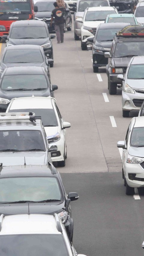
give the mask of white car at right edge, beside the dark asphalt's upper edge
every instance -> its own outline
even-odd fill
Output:
[[[122,177],[126,194],[134,195],[135,187],[144,187],[144,117],[133,117],[125,141],[117,143],[122,153]]]

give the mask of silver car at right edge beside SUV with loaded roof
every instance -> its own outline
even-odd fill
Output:
[[[133,57],[125,73],[117,78],[123,80],[122,115],[129,117],[131,110],[140,110],[144,101],[144,56]]]

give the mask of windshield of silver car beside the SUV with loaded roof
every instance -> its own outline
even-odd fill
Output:
[[[144,79],[144,64],[130,65],[128,79]]]

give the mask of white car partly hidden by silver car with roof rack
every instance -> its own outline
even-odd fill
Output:
[[[10,101],[6,112],[21,112],[26,110],[42,117],[46,138],[50,145],[57,146],[57,151],[51,152],[52,162],[57,161],[58,166],[65,166],[67,158],[66,130],[71,125],[64,122],[56,100],[48,97],[23,97]]]

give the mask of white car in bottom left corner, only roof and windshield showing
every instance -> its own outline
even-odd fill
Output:
[[[58,215],[0,215],[0,255],[76,256]],[[78,254],[77,256],[84,256]]]

